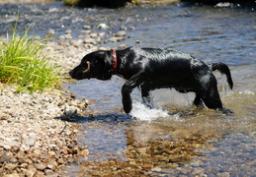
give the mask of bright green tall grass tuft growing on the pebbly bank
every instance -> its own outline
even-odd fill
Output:
[[[58,85],[58,72],[43,54],[48,38],[35,39],[25,29],[20,36],[13,29],[11,38],[0,39],[0,82],[17,85],[17,91],[53,89]]]

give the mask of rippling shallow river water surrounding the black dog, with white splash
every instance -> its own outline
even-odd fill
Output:
[[[10,31],[17,12],[19,29],[33,23],[37,35],[48,29],[55,29],[58,35],[72,29],[78,38],[84,25],[99,32],[103,29],[96,27],[104,23],[110,27],[104,30],[108,39],[124,26],[128,28],[125,41],[102,46],[124,43],[175,48],[207,63],[224,62],[231,70],[233,90],[227,89],[225,78],[218,73],[215,76],[223,105],[234,111],[232,115],[197,110],[192,106],[194,93],[170,89],[152,91],[153,109],[140,103],[134,89],[133,109],[126,115],[121,102],[125,81],[121,78],[65,85],[79,98],[90,100],[84,115],[94,114],[91,121],[80,122],[83,136],[79,141],[88,146],[90,154],[80,165],[67,167],[67,176],[255,176],[255,12],[183,3],[118,10],[68,8],[60,2],[15,4],[0,6],[0,35]]]

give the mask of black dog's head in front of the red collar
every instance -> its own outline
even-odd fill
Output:
[[[69,74],[76,80],[91,78],[110,80],[113,75],[113,62],[111,51],[95,51],[85,55],[81,63]]]

